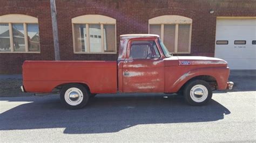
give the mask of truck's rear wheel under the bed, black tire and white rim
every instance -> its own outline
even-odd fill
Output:
[[[68,84],[60,91],[60,101],[69,109],[83,108],[89,99],[89,90],[81,84]]]

